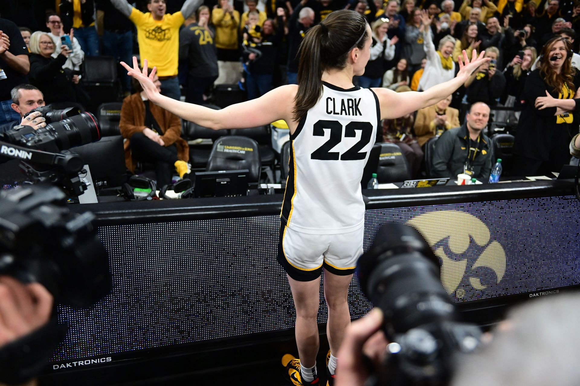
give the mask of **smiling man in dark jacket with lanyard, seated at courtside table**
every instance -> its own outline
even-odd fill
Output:
[[[479,181],[490,178],[491,141],[482,131],[490,119],[490,107],[474,103],[465,117],[465,124],[445,131],[437,139],[433,153],[433,177],[455,179],[469,174]]]

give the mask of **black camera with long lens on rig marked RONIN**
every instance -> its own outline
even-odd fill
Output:
[[[38,130],[19,125],[0,134],[0,155],[20,159],[20,168],[32,182],[57,183],[70,196],[80,196],[90,183],[82,177],[86,171],[81,157],[68,149],[99,141],[95,116],[73,108],[42,106],[34,111],[42,112],[48,124]]]

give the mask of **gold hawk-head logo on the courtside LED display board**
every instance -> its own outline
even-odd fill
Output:
[[[429,242],[441,261],[441,282],[458,299],[467,291],[483,291],[505,274],[506,253],[490,229],[476,216],[460,211],[435,211],[407,222]]]

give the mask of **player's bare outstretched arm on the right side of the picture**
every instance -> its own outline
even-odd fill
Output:
[[[459,72],[455,78],[444,83],[439,83],[437,86],[431,87],[429,90],[423,92],[408,91],[407,93],[396,93],[389,89],[377,88],[376,96],[380,103],[380,119],[395,119],[404,116],[408,113],[417,111],[427,106],[436,104],[438,101],[451,95],[455,90],[459,89],[461,85],[469,78],[472,72],[476,71],[480,65],[490,58],[484,58],[485,51],[482,51],[479,56],[473,50],[472,60],[469,61],[467,53],[463,50],[462,57],[459,56]],[[463,64],[465,63],[465,64]]]

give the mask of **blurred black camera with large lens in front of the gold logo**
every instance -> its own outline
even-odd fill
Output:
[[[481,331],[457,320],[429,244],[413,227],[382,226],[357,271],[362,292],[385,315],[391,342],[370,383],[446,385],[455,354],[473,351]]]

